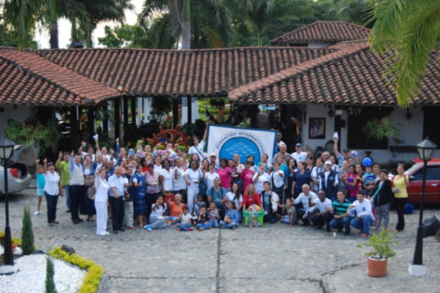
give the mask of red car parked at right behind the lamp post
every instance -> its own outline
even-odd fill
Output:
[[[440,158],[434,158],[428,161],[426,167],[425,202],[440,203]],[[420,203],[423,161],[420,159],[412,159],[412,161],[404,163],[404,170],[410,179],[410,186],[406,189],[408,191],[408,202],[415,204]],[[397,171],[393,169],[393,171],[390,172],[392,181],[395,174],[397,174]]]

